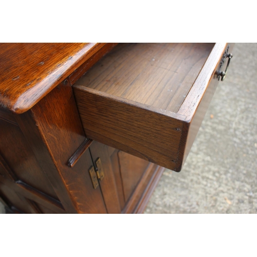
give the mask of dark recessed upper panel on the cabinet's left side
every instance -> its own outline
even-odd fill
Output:
[[[0,161],[8,174],[58,200],[21,128],[0,119],[0,135]]]

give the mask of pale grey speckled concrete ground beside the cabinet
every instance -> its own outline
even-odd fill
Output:
[[[233,56],[185,166],[164,171],[144,213],[257,213],[257,44]]]

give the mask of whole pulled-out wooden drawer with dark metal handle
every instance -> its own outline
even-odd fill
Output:
[[[180,171],[232,46],[119,44],[73,86],[86,136]]]

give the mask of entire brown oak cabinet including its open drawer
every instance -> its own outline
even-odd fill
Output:
[[[0,44],[7,213],[142,213],[181,170],[227,44],[116,45]]]

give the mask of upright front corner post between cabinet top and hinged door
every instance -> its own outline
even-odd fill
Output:
[[[54,88],[31,112],[55,167],[45,172],[58,196],[63,197],[59,199],[65,210],[106,213],[101,190],[92,187],[89,177],[88,169],[93,165],[89,151],[85,151],[74,167],[67,165],[70,156],[86,139],[70,83]]]

